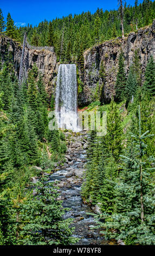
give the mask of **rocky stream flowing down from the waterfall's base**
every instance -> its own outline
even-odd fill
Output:
[[[95,218],[87,213],[94,213],[95,209],[82,202],[80,193],[87,161],[87,133],[66,132],[65,135],[68,145],[66,163],[60,169],[57,168],[49,177],[49,182],[59,181],[57,186],[61,193],[58,200],[63,200],[63,207],[69,209],[63,217],[73,218],[74,236],[80,239],[76,245],[108,245],[109,242],[104,240],[100,230],[93,229]]]

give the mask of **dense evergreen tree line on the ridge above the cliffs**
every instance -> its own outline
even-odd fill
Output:
[[[17,41],[22,42],[24,33],[27,32],[28,40],[34,46],[54,46],[57,61],[63,63],[80,62],[81,52],[99,43],[124,37],[131,31],[147,26],[155,18],[155,2],[144,0],[143,3],[132,7],[119,1],[118,10],[96,10],[94,14],[86,13],[69,14],[61,19],[52,21],[44,20],[38,26],[29,25],[17,28],[10,14],[5,25],[2,10],[0,11],[0,32]]]

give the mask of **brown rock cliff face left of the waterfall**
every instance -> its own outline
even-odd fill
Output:
[[[22,46],[14,40],[0,35],[0,51],[2,56],[2,63],[4,59],[10,54],[17,76],[19,75],[20,62],[22,55]],[[38,69],[43,75],[46,90],[51,94],[54,92],[57,74],[56,53],[53,47],[26,47],[28,60],[28,69],[31,69],[36,63]]]

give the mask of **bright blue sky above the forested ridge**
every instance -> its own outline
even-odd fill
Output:
[[[94,13],[96,9],[103,10],[118,9],[117,0],[0,0],[0,8],[3,11],[5,20],[10,12],[12,19],[15,22],[25,23],[26,25],[38,25],[39,22],[53,20],[56,17],[67,16],[70,13],[81,14],[82,11],[91,11]],[[135,0],[126,0],[127,4],[134,5]],[[139,0],[139,3],[143,0]]]

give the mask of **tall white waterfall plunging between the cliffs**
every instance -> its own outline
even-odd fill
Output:
[[[78,131],[76,65],[61,64],[57,74],[55,112],[58,126]]]

